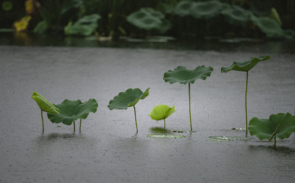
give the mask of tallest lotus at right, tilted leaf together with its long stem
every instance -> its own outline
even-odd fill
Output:
[[[247,118],[247,88],[248,88],[248,71],[252,69],[256,64],[263,60],[270,59],[269,55],[256,57],[250,57],[243,62],[234,62],[230,67],[222,67],[221,72],[227,73],[229,71],[243,71],[247,72],[246,76],[246,92],[245,92],[245,112],[246,112],[246,136],[248,134],[248,118]]]

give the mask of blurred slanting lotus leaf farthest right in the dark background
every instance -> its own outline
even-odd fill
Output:
[[[274,19],[269,17],[255,17],[252,15],[251,21],[270,38],[282,38],[285,36],[283,29]]]

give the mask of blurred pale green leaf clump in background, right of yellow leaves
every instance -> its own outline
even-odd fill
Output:
[[[69,22],[68,25],[64,28],[66,35],[76,35],[81,34],[83,36],[89,36],[97,28],[97,20],[101,17],[98,14],[92,14],[80,18],[77,22],[72,24]]]

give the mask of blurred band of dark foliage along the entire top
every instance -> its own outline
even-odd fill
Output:
[[[293,0],[6,0],[0,14],[2,32],[105,40],[295,38]]]

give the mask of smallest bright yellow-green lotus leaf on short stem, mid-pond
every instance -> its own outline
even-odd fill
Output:
[[[149,116],[152,117],[152,119],[155,120],[162,120],[164,119],[164,129],[166,128],[166,121],[165,119],[169,117],[173,112],[175,112],[175,106],[169,107],[167,105],[157,105],[152,109]]]

